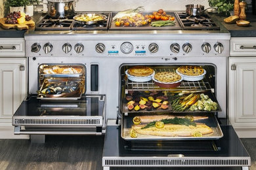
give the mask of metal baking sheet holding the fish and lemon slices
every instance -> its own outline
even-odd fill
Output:
[[[142,135],[137,133],[137,137],[131,137],[131,129],[132,126],[137,126],[133,123],[133,118],[135,116],[152,116],[152,114],[133,114],[129,113],[127,116],[122,116],[121,119],[121,137],[127,141],[157,141],[157,140],[212,140],[212,139],[219,139],[223,137],[223,132],[221,131],[221,127],[217,122],[217,118],[215,117],[214,113],[207,113],[207,114],[188,114],[188,113],[179,113],[179,114],[167,114],[167,113],[159,113],[154,114],[153,116],[177,116],[178,118],[185,118],[186,116],[194,116],[194,122],[197,124],[205,124],[212,129],[212,133],[207,135],[202,135],[201,137],[194,137],[194,136],[160,136],[160,135]],[[200,116],[198,120],[196,120],[196,116]],[[158,117],[159,118],[159,117]],[[143,119],[142,119],[143,120]],[[150,120],[154,120],[150,119]],[[141,121],[140,126],[146,126],[147,123],[143,123]],[[185,126],[185,125],[184,125]],[[189,133],[189,132],[188,132]]]

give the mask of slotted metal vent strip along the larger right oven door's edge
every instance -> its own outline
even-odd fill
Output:
[[[103,157],[102,166],[110,167],[236,167],[250,166],[250,158],[240,157]]]

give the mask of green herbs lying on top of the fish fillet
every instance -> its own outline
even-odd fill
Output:
[[[146,129],[149,127],[154,127],[157,121],[153,121],[150,122],[149,124],[146,124],[146,126],[142,127],[141,129]],[[164,124],[181,124],[181,125],[185,125],[185,126],[196,126],[196,123],[193,122],[191,119],[189,118],[166,118],[166,119],[162,119],[161,122],[163,122]]]

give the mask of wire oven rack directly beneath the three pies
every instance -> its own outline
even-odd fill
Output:
[[[160,88],[154,84],[153,80],[148,82],[133,82],[131,80],[126,80],[126,90],[140,91],[140,90],[168,90],[168,91],[177,91],[177,90],[211,90],[214,92],[214,89],[211,88],[209,82],[205,82],[204,80],[199,81],[186,81],[182,80],[181,85],[177,86],[177,88]]]

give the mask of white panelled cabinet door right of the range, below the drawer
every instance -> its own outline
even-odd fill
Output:
[[[239,137],[256,137],[256,57],[228,59],[229,119]]]

